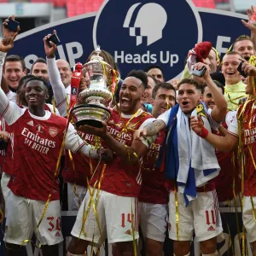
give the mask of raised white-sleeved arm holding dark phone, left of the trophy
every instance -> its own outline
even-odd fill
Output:
[[[55,31],[54,31],[55,33]],[[67,92],[65,90],[64,84],[61,81],[61,74],[59,73],[56,60],[55,60],[55,50],[57,46],[50,42],[52,47],[46,43],[47,38],[50,34],[44,37],[44,50],[47,57],[47,66],[49,72],[49,81],[52,86],[52,90],[55,97],[55,105],[58,108],[61,116],[67,116]]]

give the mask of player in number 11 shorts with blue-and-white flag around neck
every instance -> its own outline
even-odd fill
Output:
[[[216,102],[214,108],[205,110],[204,106],[201,104],[202,91],[200,84],[194,79],[183,79],[177,85],[178,105],[160,115],[158,119],[146,125],[143,129],[136,131],[135,135],[135,138],[139,139],[140,137],[154,136],[160,131],[167,130],[168,137],[166,137],[165,143],[166,158],[162,154],[162,160],[165,159],[164,166],[166,177],[170,180],[168,184],[171,190],[169,197],[169,238],[174,241],[173,248],[175,255],[189,255],[194,230],[197,241],[201,242],[202,255],[218,255],[216,237],[222,232],[216,191],[214,189],[214,183],[212,183],[213,176],[216,177],[219,171],[214,148],[209,147],[208,144],[203,146],[200,144],[201,142],[196,143],[196,140],[199,138],[195,137],[195,134],[191,133],[189,130],[189,117],[193,113],[203,114],[208,129],[212,126],[214,130],[218,129],[218,123],[222,122],[226,113],[226,102],[222,93],[218,90],[218,87],[213,83],[210,77],[210,67],[207,67],[204,63],[195,64],[195,69],[197,70],[201,70],[203,67],[207,68],[203,79],[205,79],[208,87],[212,90],[212,96]],[[197,150],[193,150],[192,141],[194,145],[201,146],[199,146]],[[201,160],[209,160],[209,166],[204,167],[204,164],[202,166],[192,166],[199,150],[204,153],[209,152],[207,157],[201,157]],[[191,154],[189,152],[191,152]],[[188,155],[188,158],[183,158],[185,154]],[[159,160],[161,164],[161,154]],[[196,162],[199,163],[197,160]],[[188,194],[186,195],[186,190],[189,191],[189,189],[182,188],[182,186],[189,188],[189,185],[192,184],[189,181],[189,172],[192,170],[205,170],[206,172],[203,172],[207,173],[209,171],[207,171],[206,168],[211,170],[211,175],[207,175],[207,181],[204,180],[203,185],[200,184],[202,180],[199,181],[199,176],[195,174],[197,171],[193,171],[193,173],[190,174],[190,177],[194,177],[192,183],[196,198],[189,200],[187,197]],[[201,171],[198,173],[203,173]],[[184,173],[188,175],[183,176]],[[205,177],[203,177],[203,179],[205,179]],[[187,207],[185,207],[185,205],[187,205]],[[212,223],[207,222],[208,212],[213,212],[214,220],[216,221]]]

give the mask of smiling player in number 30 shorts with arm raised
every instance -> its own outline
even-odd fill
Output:
[[[6,52],[12,49],[17,33],[6,35],[0,43],[0,79]],[[61,155],[61,145],[73,152],[97,157],[97,152],[84,145],[73,125],[67,119],[44,110],[47,84],[39,78],[26,82],[26,102],[28,108],[19,108],[9,102],[0,89],[0,113],[14,133],[15,155],[14,175],[9,182],[11,192],[8,197],[9,211],[5,228],[7,255],[20,255],[20,245],[32,238],[35,231],[41,242],[44,255],[57,255],[55,245],[63,240],[61,235],[61,207],[57,160]],[[46,203],[47,202],[47,203]],[[43,214],[44,213],[44,214]]]

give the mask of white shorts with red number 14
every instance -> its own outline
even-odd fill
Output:
[[[92,193],[93,189],[90,189]],[[99,190],[98,199],[95,203],[97,191],[96,189],[91,197],[93,200],[90,207],[88,207],[91,201],[88,189],[84,201],[79,208],[79,214],[71,234],[83,240],[91,241],[98,247],[102,245],[107,236],[108,243],[133,241],[133,232],[135,239],[138,239],[137,198],[113,195]],[[93,205],[96,205],[96,213],[93,210]],[[132,215],[134,216],[133,223],[131,221]]]

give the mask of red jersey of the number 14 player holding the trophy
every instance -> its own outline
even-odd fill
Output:
[[[113,110],[111,119],[108,121],[108,132],[119,143],[124,143],[131,146],[134,131],[141,125],[146,125],[148,119],[152,118],[149,113],[141,110],[137,116],[121,116],[116,110]],[[146,122],[145,122],[146,121]],[[128,124],[127,129],[125,125]],[[99,180],[102,171],[100,166],[95,175],[90,180],[90,186],[94,186]],[[100,189],[105,190],[114,195],[134,196],[138,197],[141,189],[142,176],[140,165],[128,166],[119,158],[113,159],[113,162],[108,164],[102,177]]]

